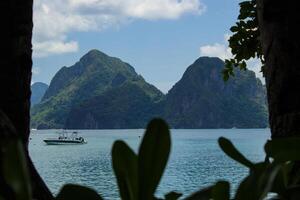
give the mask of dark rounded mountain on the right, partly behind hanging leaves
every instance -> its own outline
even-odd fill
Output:
[[[224,62],[201,57],[188,67],[166,97],[164,116],[174,128],[267,126],[265,89],[252,71],[222,80]]]

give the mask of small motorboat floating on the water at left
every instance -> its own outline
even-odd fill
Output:
[[[78,136],[77,131],[73,131],[71,135],[67,131],[59,133],[58,138],[47,138],[44,142],[48,145],[61,145],[61,144],[86,144],[86,140],[83,137]]]

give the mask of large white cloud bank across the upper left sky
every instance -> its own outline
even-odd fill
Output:
[[[74,52],[78,44],[77,48],[70,48],[71,44],[75,47],[73,41],[68,41],[70,32],[102,31],[135,19],[175,20],[204,11],[199,0],[36,0],[34,56]],[[60,48],[46,49],[53,46]]]

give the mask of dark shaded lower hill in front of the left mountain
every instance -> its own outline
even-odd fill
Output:
[[[65,127],[73,129],[145,127],[148,121],[162,113],[162,101],[153,101],[140,84],[128,81],[74,107]]]

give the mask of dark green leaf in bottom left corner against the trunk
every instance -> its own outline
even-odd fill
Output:
[[[6,183],[17,200],[31,200],[31,185],[24,147],[20,140],[9,140],[2,145],[3,172]]]

